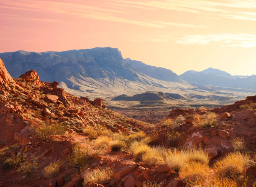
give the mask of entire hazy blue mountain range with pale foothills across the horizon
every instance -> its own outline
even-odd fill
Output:
[[[131,97],[136,94],[163,92],[178,94],[179,99],[170,100],[184,104],[196,100],[208,102],[209,98],[218,97],[227,97],[228,102],[233,102],[256,93],[256,75],[232,76],[213,68],[177,75],[166,68],[124,59],[117,48],[111,47],[63,52],[4,52],[0,53],[0,58],[14,78],[36,70],[40,80],[57,81],[67,92],[90,99],[101,97],[113,101],[125,95],[119,98],[133,100]],[[185,100],[181,101],[181,98]]]

